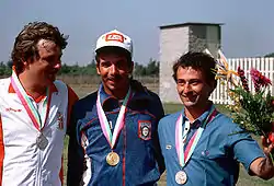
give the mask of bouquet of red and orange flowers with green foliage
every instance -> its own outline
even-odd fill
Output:
[[[229,70],[222,58],[217,61],[217,69],[216,77],[226,84],[232,84],[228,89],[232,105],[228,105],[228,108],[233,121],[249,132],[269,137],[274,143],[274,97],[269,90],[272,85],[271,80],[259,70],[251,69],[250,75],[255,90],[252,93],[244,71],[240,67],[237,72]],[[230,75],[228,77],[228,74]],[[233,78],[232,74],[239,78]]]

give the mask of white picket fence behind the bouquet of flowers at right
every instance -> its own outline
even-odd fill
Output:
[[[228,67],[230,70],[237,71],[240,66],[244,70],[246,77],[248,79],[249,88],[254,92],[254,85],[251,81],[250,69],[254,68],[262,72],[272,81],[272,86],[270,89],[272,95],[274,95],[274,58],[232,58],[228,59]],[[210,100],[216,104],[229,104],[231,101],[227,94],[227,85],[218,82],[216,90],[213,92]]]

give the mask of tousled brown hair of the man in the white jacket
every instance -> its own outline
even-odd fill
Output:
[[[37,43],[41,39],[49,39],[61,49],[67,46],[68,36],[64,36],[58,27],[46,22],[32,22],[24,26],[15,38],[11,58],[18,72],[22,72],[23,62],[28,58],[39,58]]]

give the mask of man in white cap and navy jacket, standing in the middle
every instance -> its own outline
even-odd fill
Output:
[[[128,36],[116,30],[103,34],[95,54],[102,83],[72,109],[68,185],[155,185],[164,171],[160,98],[133,80]]]

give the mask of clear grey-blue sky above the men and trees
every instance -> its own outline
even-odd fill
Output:
[[[96,38],[117,28],[134,40],[134,60],[159,59],[159,26],[185,22],[224,23],[227,57],[274,51],[273,0],[2,0],[0,61],[8,61],[23,25],[46,21],[69,35],[62,62],[92,61]]]

